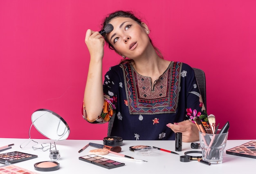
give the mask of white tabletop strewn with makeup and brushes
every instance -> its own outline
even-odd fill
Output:
[[[38,143],[53,143],[54,141],[49,139],[33,139]],[[75,174],[75,173],[88,173],[93,174],[103,174],[104,172],[111,172],[111,174],[238,174],[249,172],[254,169],[256,164],[256,159],[246,158],[241,156],[224,154],[222,164],[212,164],[205,165],[199,163],[198,161],[190,161],[187,163],[180,162],[180,156],[184,155],[184,152],[190,150],[200,150],[200,149],[191,149],[191,143],[182,143],[182,152],[177,152],[179,155],[170,154],[160,150],[156,150],[153,154],[143,156],[135,154],[129,150],[130,146],[133,145],[148,145],[160,147],[162,149],[168,149],[175,152],[175,141],[124,141],[122,147],[122,154],[132,156],[136,159],[143,159],[148,162],[137,162],[137,161],[128,161],[126,158],[121,156],[116,156],[114,154],[108,154],[105,158],[111,159],[111,156],[120,157],[121,159],[112,158],[115,161],[125,163],[122,167],[117,167],[114,169],[106,169],[93,165],[84,161],[79,160],[80,156],[88,155],[88,152],[94,147],[87,147],[83,152],[78,153],[78,151],[89,142],[103,144],[102,140],[64,140],[57,141],[56,148],[61,154],[61,158],[58,160],[60,163],[60,169],[52,172],[39,172],[34,170],[34,163],[40,161],[50,161],[49,150],[43,152],[42,150],[34,150],[31,148],[21,149],[20,145],[27,141],[27,139],[20,138],[0,138],[0,147],[8,144],[14,143],[12,149],[6,150],[4,152],[13,152],[20,151],[29,154],[38,155],[38,158],[30,159],[27,161],[21,161],[14,163],[14,165],[25,168],[32,172],[38,173],[56,173],[56,174]],[[231,149],[238,145],[242,145],[251,140],[228,140],[225,150]],[[253,171],[252,171],[253,172]],[[255,172],[255,171],[254,171]]]

